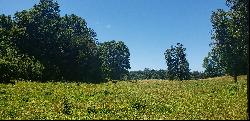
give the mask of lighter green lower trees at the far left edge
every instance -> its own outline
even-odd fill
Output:
[[[42,75],[43,65],[34,57],[20,53],[13,43],[23,33],[10,16],[0,15],[0,82],[18,78],[39,79]]]

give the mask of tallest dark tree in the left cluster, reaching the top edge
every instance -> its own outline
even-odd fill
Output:
[[[60,61],[60,46],[58,39],[59,30],[59,5],[52,0],[40,0],[29,10],[15,13],[14,22],[18,28],[24,28],[25,34],[14,42],[17,47],[30,56],[40,60],[45,66],[43,79],[61,78],[57,66]]]

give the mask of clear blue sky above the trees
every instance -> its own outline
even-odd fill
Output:
[[[204,71],[211,50],[212,11],[227,10],[225,0],[57,0],[60,15],[75,14],[97,33],[99,42],[123,41],[130,71],[167,69],[164,52],[183,44],[191,71]],[[14,15],[39,0],[0,0],[0,14]]]

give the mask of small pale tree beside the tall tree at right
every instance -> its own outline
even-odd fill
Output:
[[[204,58],[202,66],[205,68],[206,77],[222,76],[224,74],[223,67],[220,65],[218,55],[215,49],[208,52],[208,56]]]

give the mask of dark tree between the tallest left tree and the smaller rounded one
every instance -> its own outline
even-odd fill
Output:
[[[60,21],[60,61],[64,79],[100,81],[102,79],[96,33],[81,17],[65,15]]]

